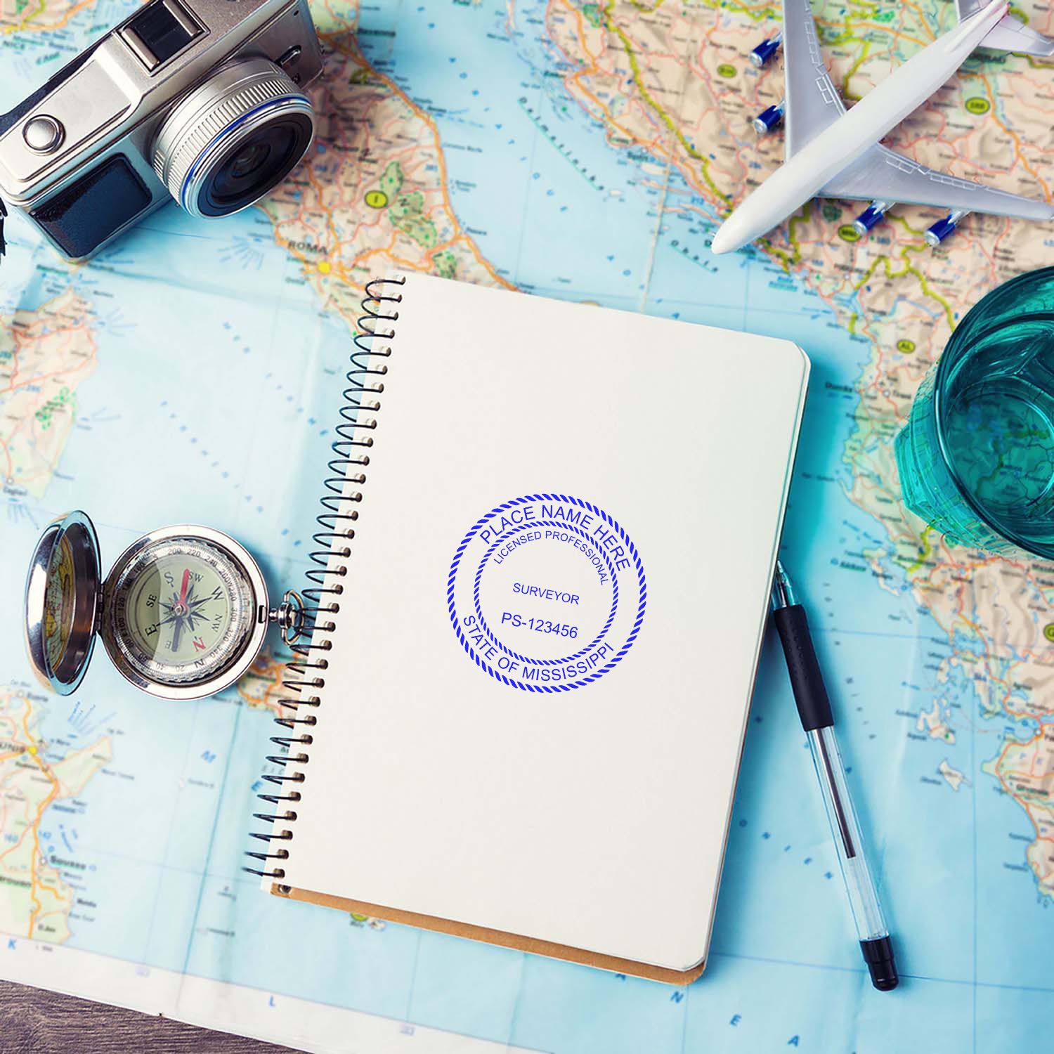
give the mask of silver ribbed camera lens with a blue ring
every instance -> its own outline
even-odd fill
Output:
[[[154,169],[195,216],[259,200],[311,145],[311,100],[267,59],[222,66],[181,99],[154,144]]]

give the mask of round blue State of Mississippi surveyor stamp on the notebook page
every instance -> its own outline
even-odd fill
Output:
[[[632,540],[569,494],[495,506],[450,564],[447,608],[469,658],[524,691],[567,691],[610,671],[644,621],[647,586]]]

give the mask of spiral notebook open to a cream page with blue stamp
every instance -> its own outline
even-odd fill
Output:
[[[808,360],[417,274],[363,307],[258,871],[282,897],[685,983]]]

